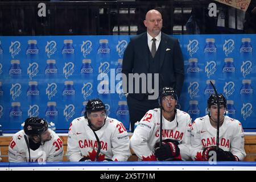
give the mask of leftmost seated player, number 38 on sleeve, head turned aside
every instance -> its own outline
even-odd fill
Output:
[[[27,118],[23,130],[14,134],[9,145],[9,162],[59,162],[63,160],[63,142],[46,119]]]

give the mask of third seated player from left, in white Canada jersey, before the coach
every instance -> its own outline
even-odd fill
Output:
[[[131,137],[131,148],[139,160],[188,160],[191,146],[191,117],[175,109],[177,96],[171,87],[159,95],[162,109],[162,146],[160,141],[160,108],[147,111]]]

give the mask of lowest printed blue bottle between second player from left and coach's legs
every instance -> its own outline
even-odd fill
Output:
[[[126,101],[118,101],[117,119],[123,123],[126,129],[129,129],[129,109]]]

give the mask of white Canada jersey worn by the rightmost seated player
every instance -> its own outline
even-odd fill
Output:
[[[191,156],[193,160],[202,160],[204,148],[216,146],[217,129],[210,124],[208,115],[197,118],[191,128]],[[243,128],[236,119],[225,116],[219,130],[219,147],[230,151],[239,160],[245,158],[245,140]]]

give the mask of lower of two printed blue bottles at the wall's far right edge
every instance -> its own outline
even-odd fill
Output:
[[[251,103],[253,101],[253,88],[251,87],[251,80],[242,80],[240,95],[242,103]]]

